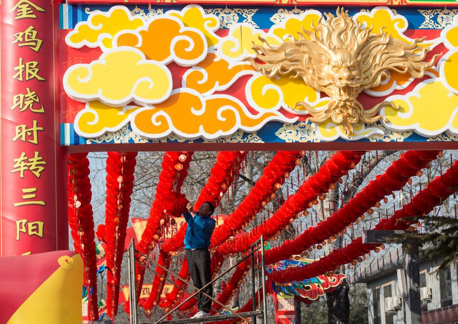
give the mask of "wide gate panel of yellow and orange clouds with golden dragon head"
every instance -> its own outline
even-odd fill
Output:
[[[280,20],[260,9],[256,23],[231,24],[198,5],[106,10],[65,37],[82,62],[63,77],[76,111],[63,123],[88,142],[458,136],[458,18],[417,39],[387,7]]]

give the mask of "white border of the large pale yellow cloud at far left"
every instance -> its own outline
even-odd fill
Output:
[[[135,89],[136,89],[136,85],[138,85],[139,82],[141,82],[141,81],[150,81],[152,84],[154,84],[153,80],[150,77],[141,77],[141,78],[137,79],[135,84],[132,86],[132,89],[130,91],[129,96],[126,96],[126,97],[124,97],[123,99],[120,99],[120,100],[112,100],[112,99],[109,99],[109,98],[106,98],[106,97],[102,96],[100,89],[99,89],[99,91],[98,91],[98,93],[96,95],[85,95],[85,94],[80,94],[80,93],[77,93],[77,92],[73,91],[71,86],[68,84],[68,76],[69,76],[70,73],[72,73],[75,69],[84,67],[84,68],[89,70],[89,75],[85,79],[91,79],[92,78],[92,67],[95,64],[105,65],[106,64],[106,62],[104,61],[105,57],[107,55],[113,53],[113,52],[118,52],[118,51],[132,51],[132,52],[135,52],[136,54],[138,54],[141,57],[141,60],[137,62],[137,65],[138,64],[148,64],[148,65],[155,65],[155,66],[159,67],[166,74],[167,81],[168,81],[168,84],[169,84],[168,85],[168,89],[165,92],[165,94],[161,98],[154,99],[154,100],[147,100],[146,98],[140,98],[137,95],[135,95],[134,92],[135,92]],[[65,74],[64,74],[64,76],[62,78],[62,83],[63,83],[63,86],[64,86],[65,93],[70,98],[72,98],[72,99],[74,99],[76,101],[88,102],[88,101],[98,100],[98,101],[102,102],[103,104],[105,104],[107,106],[112,106],[112,107],[124,106],[124,105],[127,105],[129,102],[132,102],[132,101],[134,103],[140,105],[140,106],[141,105],[161,103],[161,102],[165,101],[170,96],[170,92],[171,92],[172,87],[173,87],[173,80],[172,80],[172,76],[171,76],[170,70],[165,65],[163,65],[162,63],[157,62],[157,61],[147,60],[146,57],[145,57],[145,54],[143,52],[141,52],[140,50],[138,50],[136,48],[130,47],[130,46],[116,47],[116,48],[112,48],[110,50],[107,50],[106,52],[103,52],[97,60],[92,61],[90,64],[81,63],[81,64],[72,65],[70,68],[67,69],[67,71],[65,71]]]

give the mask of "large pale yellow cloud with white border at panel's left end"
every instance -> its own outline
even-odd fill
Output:
[[[63,78],[65,92],[74,100],[99,100],[110,106],[164,101],[172,89],[171,73],[159,62],[146,60],[132,47],[108,50],[91,64],[71,66]]]

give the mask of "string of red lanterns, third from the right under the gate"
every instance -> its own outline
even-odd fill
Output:
[[[217,247],[220,253],[243,252],[250,248],[261,235],[268,240],[279,230],[292,223],[298,213],[318,204],[317,197],[335,186],[337,180],[358,164],[364,151],[339,151],[329,158],[317,173],[302,183],[298,191],[289,196],[283,205],[263,224],[249,233],[243,233],[233,241],[225,242]]]

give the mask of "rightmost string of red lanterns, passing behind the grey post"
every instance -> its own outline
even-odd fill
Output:
[[[374,229],[407,229],[411,224],[416,222],[415,216],[426,215],[434,207],[442,204],[443,200],[453,194],[458,186],[458,161],[448,169],[443,175],[436,179],[418,194],[411,202],[404,205],[402,209],[397,210],[394,215],[388,219],[381,220]],[[414,219],[408,219],[412,217]],[[361,256],[374,250],[379,251],[377,244],[363,244],[361,238],[352,241],[347,247],[334,250],[329,255],[319,259],[316,262],[307,264],[305,267],[295,269],[285,269],[273,271],[269,278],[275,282],[287,282],[291,280],[304,280],[319,276],[323,273],[333,271],[342,264],[362,260]]]

